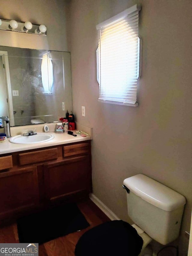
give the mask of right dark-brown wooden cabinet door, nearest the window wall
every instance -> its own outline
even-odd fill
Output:
[[[57,201],[91,189],[90,157],[80,156],[44,164],[45,190],[48,200]]]

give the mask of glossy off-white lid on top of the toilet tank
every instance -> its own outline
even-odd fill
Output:
[[[184,196],[143,174],[129,177],[123,184],[143,200],[165,211],[173,211],[186,203]]]

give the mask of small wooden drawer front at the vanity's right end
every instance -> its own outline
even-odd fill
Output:
[[[86,155],[89,153],[89,143],[80,143],[63,147],[64,157],[75,155]]]

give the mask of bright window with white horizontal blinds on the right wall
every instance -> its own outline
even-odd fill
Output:
[[[97,50],[99,101],[137,106],[140,77],[138,5],[96,26],[100,30]]]

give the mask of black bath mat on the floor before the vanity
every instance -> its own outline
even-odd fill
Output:
[[[20,243],[43,244],[89,226],[76,204],[67,204],[17,220]]]

